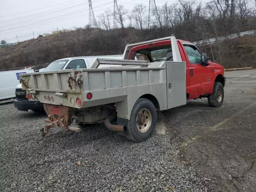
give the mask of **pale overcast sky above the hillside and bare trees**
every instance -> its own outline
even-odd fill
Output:
[[[178,0],[168,0],[168,4]],[[206,2],[207,0],[202,0]],[[162,6],[166,0],[156,0]],[[196,1],[199,3],[200,1]],[[131,11],[135,4],[148,7],[148,0],[117,0],[118,5]],[[96,20],[106,9],[113,10],[114,0],[92,0]],[[61,29],[74,29],[88,24],[88,0],[0,0],[0,40],[17,42],[35,38],[39,34]]]

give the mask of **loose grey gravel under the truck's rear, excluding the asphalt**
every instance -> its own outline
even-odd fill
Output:
[[[207,191],[171,133],[135,143],[97,124],[41,138],[44,118],[1,102],[0,191]]]

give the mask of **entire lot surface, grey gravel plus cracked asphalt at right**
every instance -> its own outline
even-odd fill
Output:
[[[226,76],[221,108],[193,100],[159,113],[142,143],[102,124],[41,138],[45,114],[0,102],[0,191],[256,191],[256,70]]]

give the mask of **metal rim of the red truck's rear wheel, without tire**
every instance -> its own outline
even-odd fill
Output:
[[[136,126],[139,132],[145,133],[148,131],[148,129],[151,126],[152,122],[152,115],[151,112],[144,108],[138,112],[137,118],[136,118]]]

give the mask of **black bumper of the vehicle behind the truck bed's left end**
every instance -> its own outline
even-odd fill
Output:
[[[13,104],[20,111],[44,110],[44,105],[39,101],[14,99]]]

